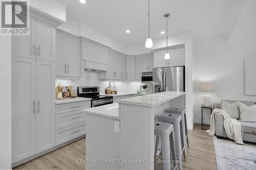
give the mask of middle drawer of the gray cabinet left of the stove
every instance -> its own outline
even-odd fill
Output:
[[[56,129],[65,128],[86,121],[86,113],[81,110],[56,114]]]

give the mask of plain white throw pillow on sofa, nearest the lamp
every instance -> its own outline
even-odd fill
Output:
[[[221,101],[222,110],[224,110],[231,118],[240,119],[239,111],[240,102],[227,103],[226,101]]]

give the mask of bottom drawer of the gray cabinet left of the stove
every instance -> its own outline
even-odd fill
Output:
[[[56,145],[86,134],[86,123],[56,130]]]

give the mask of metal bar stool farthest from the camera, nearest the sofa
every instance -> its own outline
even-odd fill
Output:
[[[180,114],[182,116],[182,128],[183,132],[185,132],[185,137],[187,140],[187,147],[189,147],[189,142],[188,142],[188,134],[187,134],[187,118],[186,118],[186,110],[181,109],[181,108],[174,108],[171,107],[168,110],[166,110],[168,113],[174,113],[174,114]]]

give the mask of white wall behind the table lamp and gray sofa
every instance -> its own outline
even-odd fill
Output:
[[[199,82],[215,83],[209,93],[211,103],[222,99],[256,101],[256,96],[244,95],[244,57],[256,56],[256,40],[227,42],[222,38],[195,41],[195,122],[201,123],[201,104],[204,93],[198,92]],[[209,112],[205,112],[209,123]]]

